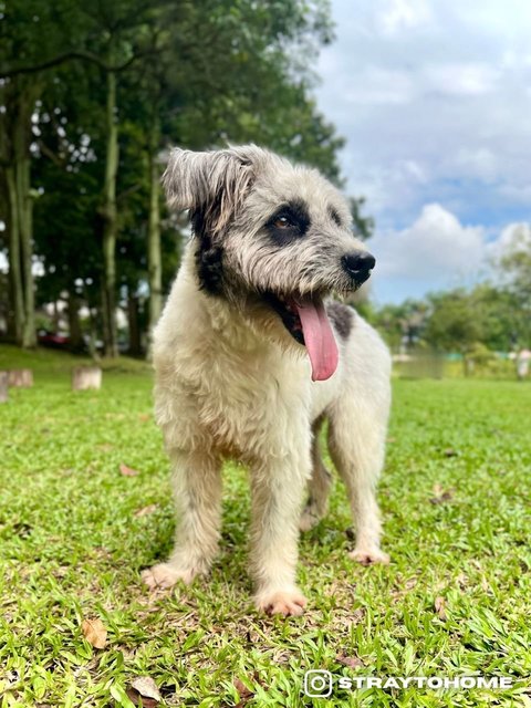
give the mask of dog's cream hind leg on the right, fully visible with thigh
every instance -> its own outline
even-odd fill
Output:
[[[329,410],[329,449],[345,482],[356,529],[351,558],[367,565],[388,563],[379,548],[382,532],[375,497],[384,465],[388,388],[371,388],[367,382],[350,382]]]

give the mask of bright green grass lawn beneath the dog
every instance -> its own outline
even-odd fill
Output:
[[[65,355],[24,355],[35,385],[0,406],[1,706],[133,706],[149,676],[167,706],[531,706],[531,385],[397,381],[379,487],[386,568],[347,559],[346,497],[304,535],[301,618],[258,615],[246,572],[246,470],[227,465],[210,580],[149,596],[170,548],[167,461],[144,365],[70,391]],[[14,366],[0,347],[0,369]],[[139,473],[121,473],[124,464]],[[84,620],[107,629],[104,648]],[[336,687],[366,676],[509,676],[508,690]],[[145,702],[144,705],[155,705]]]

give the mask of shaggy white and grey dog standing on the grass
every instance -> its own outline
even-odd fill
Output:
[[[345,199],[316,170],[257,146],[171,153],[169,206],[194,236],[154,334],[156,418],[171,460],[177,530],[150,587],[190,583],[216,555],[221,465],[249,466],[251,574],[260,610],[299,615],[299,530],[325,513],[329,448],[356,524],[351,555],[379,549],[375,485],[384,461],[389,355],[376,332],[330,300],[358,288],[374,258]],[[302,508],[304,492],[309,496]]]

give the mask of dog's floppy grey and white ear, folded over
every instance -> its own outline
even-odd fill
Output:
[[[163,175],[168,205],[173,209],[200,212],[210,236],[221,232],[235,216],[252,184],[256,164],[253,148],[229,148],[194,153],[171,150]]]

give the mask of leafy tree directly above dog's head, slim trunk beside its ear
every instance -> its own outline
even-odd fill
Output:
[[[201,0],[159,8],[147,28],[157,61],[139,62],[128,73],[126,101],[147,155],[149,329],[163,301],[159,154],[168,143],[204,148],[257,140],[339,178],[342,140],[308,96],[308,69],[300,67],[295,80],[287,52],[296,43],[299,61],[309,59],[314,42],[330,40],[324,8],[298,0]]]

